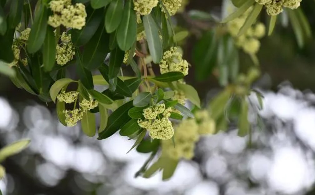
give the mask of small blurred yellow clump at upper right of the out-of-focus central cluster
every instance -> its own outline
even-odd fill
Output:
[[[197,111],[195,119],[198,123],[198,133],[200,135],[215,133],[215,120],[213,120],[207,110]]]

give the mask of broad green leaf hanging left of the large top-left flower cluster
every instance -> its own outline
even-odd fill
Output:
[[[35,53],[38,51],[45,40],[48,20],[48,10],[43,5],[39,13],[35,16],[34,23],[31,28],[30,36],[27,40],[27,51]]]

